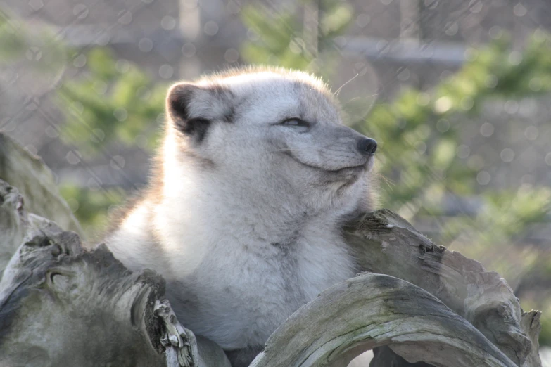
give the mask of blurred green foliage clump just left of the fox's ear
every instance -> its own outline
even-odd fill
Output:
[[[116,60],[106,48],[75,52],[80,75],[58,88],[65,114],[62,138],[94,157],[109,143],[153,148],[156,121],[163,120],[166,84],[154,84],[145,72],[127,60]],[[146,141],[137,141],[146,138]]]

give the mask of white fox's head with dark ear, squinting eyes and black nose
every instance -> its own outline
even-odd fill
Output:
[[[178,147],[168,154],[239,186],[239,195],[367,209],[376,141],[343,126],[337,101],[316,77],[262,68],[182,82],[168,92],[167,114],[167,136]]]

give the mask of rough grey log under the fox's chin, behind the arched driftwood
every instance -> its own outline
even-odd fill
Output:
[[[395,276],[431,292],[478,328],[516,366],[541,366],[538,345],[531,342],[537,327],[530,329],[534,336],[528,338],[521,326],[517,297],[498,273],[434,245],[389,210],[348,224],[344,234],[363,270]]]

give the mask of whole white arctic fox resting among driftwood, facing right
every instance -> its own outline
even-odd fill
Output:
[[[161,273],[179,321],[247,365],[296,309],[355,275],[341,225],[371,209],[376,141],[343,126],[305,72],[229,70],[166,101],[148,188],[106,242],[129,269]]]

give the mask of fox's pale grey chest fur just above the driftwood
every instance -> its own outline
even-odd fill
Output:
[[[226,349],[263,345],[296,309],[354,276],[342,240],[322,238],[221,246],[182,278],[186,290],[180,294],[193,299],[180,302],[184,322]]]

